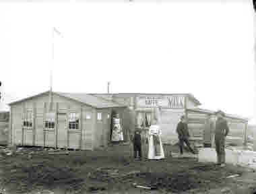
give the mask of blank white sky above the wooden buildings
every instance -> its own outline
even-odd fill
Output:
[[[253,32],[251,1],[0,3],[1,103],[52,68],[54,91],[191,93],[256,123]]]

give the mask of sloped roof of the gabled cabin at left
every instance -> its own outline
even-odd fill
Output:
[[[40,94],[30,96],[28,98],[23,98],[22,100],[18,100],[15,102],[9,103],[9,105],[16,104],[18,102],[22,102],[24,100],[28,100],[30,98],[34,98],[36,96],[40,96],[42,94],[48,94],[50,91],[42,92]],[[63,96],[65,98],[69,98],[71,100],[75,100],[77,102],[81,102],[84,104],[87,104],[89,106],[92,106],[94,108],[118,108],[118,107],[126,107],[125,104],[113,102],[110,100],[106,100],[104,98],[92,96],[90,94],[85,93],[65,93],[65,92],[53,92],[53,94],[57,94],[59,96]]]

